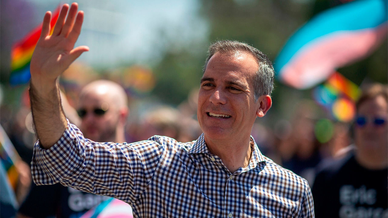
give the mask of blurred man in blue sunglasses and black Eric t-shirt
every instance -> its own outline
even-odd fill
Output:
[[[317,218],[388,217],[388,87],[367,86],[356,110],[354,149],[315,178]]]

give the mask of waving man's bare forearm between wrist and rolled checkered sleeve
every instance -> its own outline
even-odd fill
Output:
[[[36,134],[42,147],[48,149],[61,138],[67,126],[58,82],[39,86],[31,80],[29,96]]]

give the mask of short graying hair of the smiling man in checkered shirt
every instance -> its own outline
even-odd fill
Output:
[[[249,54],[255,57],[259,69],[255,72],[253,76],[253,95],[255,100],[257,100],[261,95],[271,95],[272,90],[274,89],[274,76],[275,70],[272,66],[272,62],[268,59],[267,55],[260,52],[255,47],[252,47],[246,43],[231,41],[231,40],[220,40],[212,43],[209,46],[208,57],[206,58],[205,65],[203,67],[203,73],[205,73],[206,66],[210,58],[217,52],[227,53],[227,52],[248,52]]]

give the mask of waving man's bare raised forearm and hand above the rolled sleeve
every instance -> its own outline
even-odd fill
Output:
[[[48,149],[66,130],[67,122],[61,106],[58,76],[83,52],[87,46],[74,48],[81,32],[83,11],[77,3],[64,4],[50,34],[51,12],[43,18],[42,33],[31,57],[31,84],[29,89],[31,111],[40,144]],[[75,22],[74,22],[75,21]]]

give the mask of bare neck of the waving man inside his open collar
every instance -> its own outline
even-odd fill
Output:
[[[205,136],[206,146],[211,154],[221,158],[222,163],[233,173],[240,167],[246,167],[251,159],[252,149],[250,137],[243,142],[224,142],[217,140],[208,140]]]

